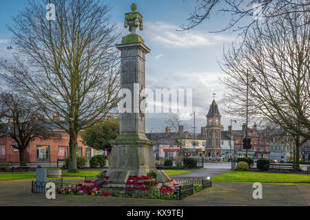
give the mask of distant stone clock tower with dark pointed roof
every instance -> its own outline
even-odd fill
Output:
[[[221,157],[220,148],[220,132],[223,131],[224,126],[220,124],[220,112],[218,111],[218,104],[213,100],[207,114],[207,157]]]

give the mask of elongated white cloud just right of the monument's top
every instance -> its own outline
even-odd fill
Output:
[[[205,34],[203,32],[178,32],[178,26],[169,23],[145,23],[145,36],[151,41],[156,41],[165,47],[203,47],[233,41],[231,37],[220,34]]]

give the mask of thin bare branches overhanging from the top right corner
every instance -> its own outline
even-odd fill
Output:
[[[181,25],[180,28],[182,30],[195,28],[209,19],[212,12],[218,11],[231,14],[231,19],[224,28],[214,32],[233,29],[246,35],[251,25],[257,24],[261,19],[295,12],[309,12],[309,10],[310,3],[304,0],[199,0],[194,12],[187,19],[188,24]],[[254,19],[248,20],[249,17]],[[238,24],[241,23],[242,25],[239,26]]]

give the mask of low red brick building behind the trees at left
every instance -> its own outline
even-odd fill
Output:
[[[60,137],[50,137],[40,139],[39,137],[30,140],[30,144],[25,151],[25,159],[28,163],[56,163],[57,159],[68,157],[69,135],[62,130],[53,130],[59,133]],[[83,132],[83,131],[81,131]],[[85,148],[82,144],[81,132],[78,135],[77,155],[85,157],[90,148]],[[0,162],[19,162],[19,151],[14,148],[14,140],[10,136],[0,137]],[[89,158],[87,158],[89,159]]]

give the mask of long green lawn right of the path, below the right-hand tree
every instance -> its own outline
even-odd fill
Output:
[[[310,183],[310,176],[286,173],[228,172],[212,177],[212,181]]]

